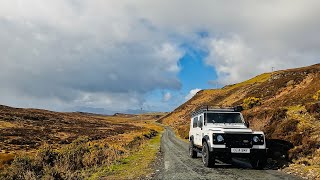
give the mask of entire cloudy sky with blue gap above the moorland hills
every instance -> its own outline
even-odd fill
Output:
[[[0,0],[0,104],[171,111],[201,89],[319,63],[316,0]]]

